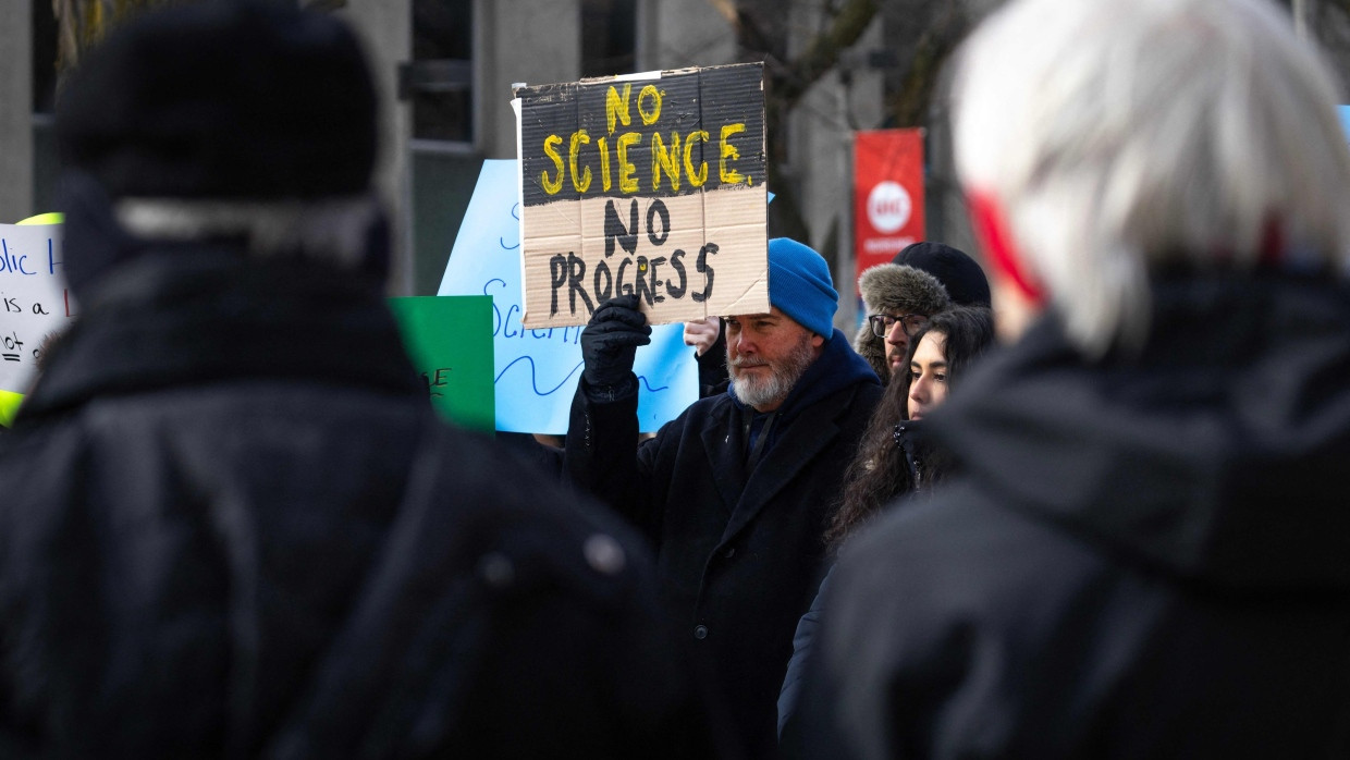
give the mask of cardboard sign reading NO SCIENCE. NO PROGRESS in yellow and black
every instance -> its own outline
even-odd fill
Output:
[[[770,309],[761,63],[514,92],[525,327]]]

